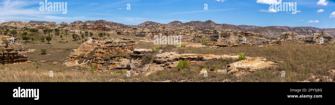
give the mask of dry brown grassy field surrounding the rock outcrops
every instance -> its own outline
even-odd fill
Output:
[[[97,33],[94,33],[94,36],[97,36]],[[19,37],[18,35],[17,38]],[[113,37],[119,36],[115,34],[109,36],[109,38]],[[139,42],[139,38],[131,35],[121,37],[133,38]],[[0,82],[332,82],[335,79],[334,73],[329,72],[335,70],[335,44],[305,45],[300,42],[284,42],[284,45],[264,45],[264,47],[166,48],[164,51],[193,54],[238,55],[244,53],[248,57],[266,57],[267,61],[283,63],[278,67],[265,68],[239,77],[218,73],[210,73],[209,77],[199,75],[202,68],[226,69],[227,65],[237,61],[218,59],[209,60],[204,64],[192,64],[182,71],[176,68],[166,69],[149,76],[138,75],[127,78],[125,74],[91,73],[88,68],[51,64],[65,60],[71,50],[78,48],[84,39],[72,40],[71,35],[67,37],[63,35],[63,38],[54,36],[51,44],[38,40],[32,42],[19,40],[25,48],[47,49],[47,55],[41,55],[40,51],[27,54],[29,61],[46,62],[0,65]],[[135,45],[135,48],[152,48],[153,46],[152,43],[140,42]],[[50,52],[54,50],[64,51]],[[54,71],[52,78],[49,77],[50,71]],[[285,77],[281,77],[281,71],[286,72]]]

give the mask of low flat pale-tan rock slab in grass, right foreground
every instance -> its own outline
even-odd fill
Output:
[[[228,65],[227,71],[228,74],[239,76],[247,73],[256,72],[257,70],[263,68],[275,67],[277,65],[277,63],[266,62],[266,58],[247,58],[245,60]]]

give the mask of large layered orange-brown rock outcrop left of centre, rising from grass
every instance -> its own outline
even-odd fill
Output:
[[[130,54],[134,51],[135,41],[130,38],[119,37],[111,40],[89,40],[84,42],[78,49],[72,50],[67,58],[67,66],[94,66],[98,71],[112,71],[127,69],[130,62]],[[134,60],[131,67],[137,65]]]

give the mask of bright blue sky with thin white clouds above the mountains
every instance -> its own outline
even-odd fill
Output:
[[[40,12],[39,3],[45,0],[0,0],[0,22],[106,20],[137,25],[145,21],[212,20],[233,25],[335,28],[335,18],[330,18],[335,12],[335,0],[277,0],[297,2],[300,12],[296,14],[269,12],[269,1],[276,0],[48,0],[67,2],[67,14],[62,14]],[[126,9],[128,3],[131,10]],[[204,10],[204,4],[208,4],[208,10]]]

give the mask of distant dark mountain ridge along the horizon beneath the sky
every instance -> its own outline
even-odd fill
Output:
[[[250,32],[256,32],[256,33],[262,33],[267,38],[278,38],[283,32],[291,31],[294,33],[298,33],[299,35],[311,35],[316,32],[323,31],[324,33],[329,33],[333,36],[335,36],[335,28],[316,28],[316,27],[290,27],[290,26],[267,26],[267,27],[261,27],[261,26],[254,26],[254,25],[231,25],[231,24],[217,24],[214,21],[207,20],[207,21],[190,21],[190,22],[180,22],[180,21],[172,21],[167,24],[153,22],[153,21],[146,21],[144,23],[138,24],[138,25],[126,25],[122,23],[116,23],[112,21],[105,21],[105,20],[96,20],[96,21],[85,21],[86,23],[92,23],[92,24],[104,24],[111,27],[118,26],[121,28],[133,28],[133,27],[139,27],[139,28],[147,28],[147,29],[154,29],[157,26],[165,26],[166,29],[171,30],[180,30],[185,26],[193,26],[194,28],[197,28],[199,30],[205,30],[205,29],[211,29],[211,30],[226,30],[230,29],[233,31],[250,31]],[[38,25],[44,24],[44,23],[50,23],[47,21],[30,21],[30,23],[35,23]],[[73,24],[80,24],[82,21],[74,21]],[[71,23],[71,24],[72,24]],[[5,23],[2,23],[5,24]],[[56,23],[54,23],[56,24]],[[1,25],[1,24],[0,24]],[[57,25],[57,24],[56,24]]]

